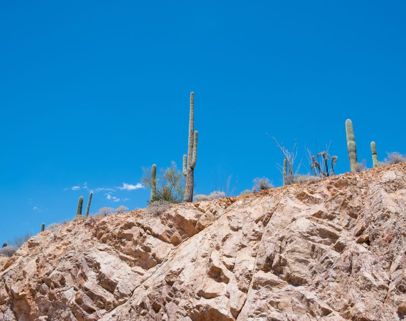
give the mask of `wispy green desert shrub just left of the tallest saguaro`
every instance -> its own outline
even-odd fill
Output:
[[[183,174],[178,170],[176,163],[171,162],[171,167],[161,168],[156,182],[151,179],[151,169],[144,168],[142,182],[149,188],[154,188],[156,183],[156,196],[152,202],[163,200],[170,203],[181,203],[183,201]],[[150,201],[147,201],[148,203]]]

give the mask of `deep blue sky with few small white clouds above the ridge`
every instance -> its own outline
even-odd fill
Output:
[[[144,207],[142,167],[182,164],[189,93],[196,193],[276,186],[269,133],[358,158],[406,153],[402,1],[0,3],[0,241],[73,218],[77,199]],[[306,169],[302,167],[302,172]],[[129,185],[125,188],[124,183]],[[127,185],[127,187],[128,187]],[[115,197],[115,198],[114,198]],[[117,201],[120,199],[119,201]]]

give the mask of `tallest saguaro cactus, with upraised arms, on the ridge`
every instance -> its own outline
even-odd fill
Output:
[[[197,158],[197,131],[194,131],[194,93],[190,93],[189,139],[187,156],[183,155],[183,174],[185,175],[185,202],[193,201],[194,167]]]

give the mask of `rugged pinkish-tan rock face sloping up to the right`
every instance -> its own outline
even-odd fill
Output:
[[[71,222],[0,267],[0,319],[399,320],[406,164]]]

